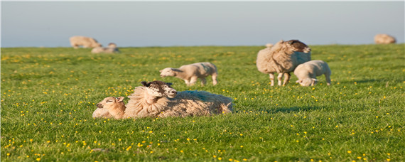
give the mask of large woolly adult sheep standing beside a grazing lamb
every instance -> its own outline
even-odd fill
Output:
[[[298,40],[279,41],[271,48],[264,48],[257,53],[257,70],[269,74],[271,86],[274,86],[274,72],[279,73],[278,85],[284,75],[283,85],[290,80],[290,72],[301,63],[311,60],[311,48]]]

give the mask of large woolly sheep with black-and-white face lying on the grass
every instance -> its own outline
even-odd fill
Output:
[[[126,104],[124,118],[188,117],[232,112],[232,99],[204,91],[177,92],[171,83],[141,82]]]

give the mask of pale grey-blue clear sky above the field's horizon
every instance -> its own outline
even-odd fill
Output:
[[[1,47],[404,43],[404,1],[1,1]]]

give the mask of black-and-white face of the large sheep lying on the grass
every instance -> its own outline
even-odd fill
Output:
[[[159,80],[153,82],[141,82],[146,87],[146,92],[154,97],[169,97],[173,98],[177,95],[177,91],[171,87],[171,82],[162,82]]]

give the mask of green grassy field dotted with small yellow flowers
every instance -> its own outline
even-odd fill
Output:
[[[315,87],[293,74],[270,87],[262,48],[1,48],[1,161],[405,161],[404,44],[311,45],[332,70],[332,85]],[[159,77],[203,61],[218,85]],[[97,102],[144,80],[232,97],[234,113],[92,119]]]

